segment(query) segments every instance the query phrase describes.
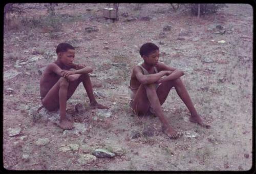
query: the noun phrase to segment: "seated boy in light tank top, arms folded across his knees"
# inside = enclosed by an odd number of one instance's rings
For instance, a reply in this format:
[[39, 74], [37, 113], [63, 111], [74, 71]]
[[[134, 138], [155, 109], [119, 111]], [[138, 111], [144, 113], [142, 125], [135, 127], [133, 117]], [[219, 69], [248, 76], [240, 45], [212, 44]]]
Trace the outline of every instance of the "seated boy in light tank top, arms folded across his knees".
[[138, 115], [154, 113], [162, 123], [163, 132], [170, 138], [176, 138], [178, 133], [170, 126], [161, 108], [170, 89], [174, 87], [191, 113], [189, 120], [209, 128], [210, 126], [205, 124], [198, 115], [180, 79], [184, 75], [183, 71], [158, 62], [159, 48], [155, 44], [142, 45], [140, 55], [144, 61], [133, 68], [129, 86], [132, 110]]

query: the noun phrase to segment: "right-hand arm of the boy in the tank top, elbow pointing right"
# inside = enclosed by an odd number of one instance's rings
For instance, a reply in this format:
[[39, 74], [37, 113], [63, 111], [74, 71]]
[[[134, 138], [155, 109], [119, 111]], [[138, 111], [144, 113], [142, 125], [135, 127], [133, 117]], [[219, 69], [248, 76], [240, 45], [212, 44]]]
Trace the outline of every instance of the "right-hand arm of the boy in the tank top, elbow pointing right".
[[184, 75], [184, 72], [172, 67], [168, 67], [163, 63], [158, 63], [157, 64], [157, 69], [161, 72], [161, 71], [172, 71], [168, 76], [160, 78], [157, 83], [162, 83], [164, 81], [168, 81], [168, 80], [175, 80], [177, 78], [180, 78], [181, 76]]

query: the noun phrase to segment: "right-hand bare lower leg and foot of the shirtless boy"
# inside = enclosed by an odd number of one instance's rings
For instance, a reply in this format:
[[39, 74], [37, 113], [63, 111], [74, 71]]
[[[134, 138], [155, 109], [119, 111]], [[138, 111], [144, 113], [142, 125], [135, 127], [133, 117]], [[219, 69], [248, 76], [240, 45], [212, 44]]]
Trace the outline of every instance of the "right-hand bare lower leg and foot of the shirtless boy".
[[89, 74], [82, 74], [81, 75], [81, 80], [82, 80], [82, 84], [84, 86], [84, 89], [86, 89], [87, 95], [89, 97], [90, 105], [93, 108], [109, 108], [109, 107], [106, 107], [102, 104], [97, 103], [97, 101], [94, 97], [94, 94], [93, 94], [93, 88], [92, 88], [92, 82], [91, 82], [91, 79], [90, 79], [90, 75]]

